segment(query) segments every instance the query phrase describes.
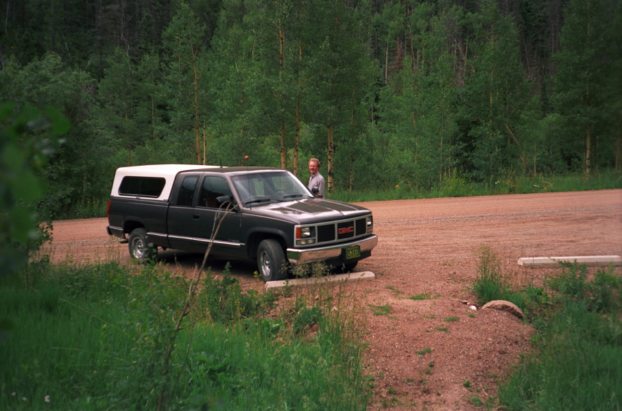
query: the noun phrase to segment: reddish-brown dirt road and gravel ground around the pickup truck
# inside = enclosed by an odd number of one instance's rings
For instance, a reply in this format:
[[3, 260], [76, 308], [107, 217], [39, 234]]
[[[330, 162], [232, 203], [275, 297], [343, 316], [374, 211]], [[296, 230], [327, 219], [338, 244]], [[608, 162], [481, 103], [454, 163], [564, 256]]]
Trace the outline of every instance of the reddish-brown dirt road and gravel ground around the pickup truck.
[[[558, 270], [518, 266], [521, 257], [622, 254], [622, 190], [557, 192], [361, 203], [374, 212], [379, 245], [348, 284], [363, 301], [369, 410], [477, 410], [529, 350], [531, 328], [512, 314], [473, 310], [470, 284], [479, 249], [492, 247], [516, 282]], [[106, 234], [106, 219], [56, 221], [53, 260], [130, 264], [127, 245]], [[160, 252], [186, 269], [202, 256]], [[213, 261], [215, 271], [224, 262]], [[235, 262], [244, 288], [263, 290], [252, 264]], [[618, 273], [620, 270], [618, 269]], [[409, 299], [426, 294], [430, 299]], [[380, 306], [389, 312], [374, 314]], [[476, 399], [477, 397], [477, 399]]]

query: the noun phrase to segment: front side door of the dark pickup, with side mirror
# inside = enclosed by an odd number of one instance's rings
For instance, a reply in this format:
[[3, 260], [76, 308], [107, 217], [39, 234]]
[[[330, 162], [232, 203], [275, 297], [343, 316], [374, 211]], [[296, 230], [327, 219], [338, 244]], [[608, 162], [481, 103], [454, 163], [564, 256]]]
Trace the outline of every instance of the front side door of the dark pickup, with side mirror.
[[[220, 257], [241, 256], [240, 214], [237, 210], [227, 212], [230, 205], [222, 206], [218, 197], [233, 194], [227, 180], [219, 175], [204, 175], [199, 190], [197, 206], [193, 214], [193, 236], [203, 251], [213, 242], [211, 254]], [[218, 228], [219, 222], [220, 227]]]

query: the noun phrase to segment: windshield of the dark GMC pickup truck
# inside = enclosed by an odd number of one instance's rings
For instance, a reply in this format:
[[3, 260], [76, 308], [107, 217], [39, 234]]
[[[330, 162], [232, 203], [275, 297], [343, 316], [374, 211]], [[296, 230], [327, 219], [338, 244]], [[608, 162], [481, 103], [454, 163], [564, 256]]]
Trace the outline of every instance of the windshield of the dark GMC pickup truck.
[[248, 173], [232, 180], [245, 206], [313, 198], [307, 187], [289, 171]]

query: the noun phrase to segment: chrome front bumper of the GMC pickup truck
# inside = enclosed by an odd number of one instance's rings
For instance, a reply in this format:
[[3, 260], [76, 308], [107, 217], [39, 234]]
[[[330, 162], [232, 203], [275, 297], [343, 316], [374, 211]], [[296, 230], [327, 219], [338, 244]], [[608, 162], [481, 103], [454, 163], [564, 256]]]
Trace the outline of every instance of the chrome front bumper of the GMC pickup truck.
[[[369, 257], [371, 251], [378, 244], [378, 236], [375, 234], [366, 237], [359, 238], [350, 242], [342, 242], [339, 244], [328, 245], [326, 247], [315, 247], [308, 249], [287, 249], [287, 260], [291, 264], [297, 262], [315, 262], [326, 261], [331, 262], [355, 262], [363, 258]], [[361, 257], [346, 260], [345, 250], [350, 247], [361, 247]]]

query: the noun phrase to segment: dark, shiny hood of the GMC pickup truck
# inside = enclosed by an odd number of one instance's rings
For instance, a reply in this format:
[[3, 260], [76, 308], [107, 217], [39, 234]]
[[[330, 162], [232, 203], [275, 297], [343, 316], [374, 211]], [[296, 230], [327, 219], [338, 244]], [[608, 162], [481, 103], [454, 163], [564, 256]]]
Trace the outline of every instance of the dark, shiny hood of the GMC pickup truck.
[[300, 199], [261, 204], [247, 208], [246, 211], [276, 219], [286, 219], [297, 224], [335, 221], [371, 214], [367, 208], [327, 199]]

